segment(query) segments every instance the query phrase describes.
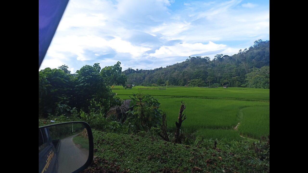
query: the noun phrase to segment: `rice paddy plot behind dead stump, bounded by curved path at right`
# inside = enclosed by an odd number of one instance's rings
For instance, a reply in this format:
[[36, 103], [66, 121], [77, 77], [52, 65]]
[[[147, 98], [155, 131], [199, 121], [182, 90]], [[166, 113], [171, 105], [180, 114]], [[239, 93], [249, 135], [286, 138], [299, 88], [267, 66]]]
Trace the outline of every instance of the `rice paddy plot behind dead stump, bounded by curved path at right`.
[[167, 123], [173, 126], [179, 115], [181, 100], [185, 102], [185, 128], [232, 129], [239, 122], [238, 111], [243, 107], [267, 106], [266, 102], [226, 99], [159, 98], [160, 108], [167, 113]]

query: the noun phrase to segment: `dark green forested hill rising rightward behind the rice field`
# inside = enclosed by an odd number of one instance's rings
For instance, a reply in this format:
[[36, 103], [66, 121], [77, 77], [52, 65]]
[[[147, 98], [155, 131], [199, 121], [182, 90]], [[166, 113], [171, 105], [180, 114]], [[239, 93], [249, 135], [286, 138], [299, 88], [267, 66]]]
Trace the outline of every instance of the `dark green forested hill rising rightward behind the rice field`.
[[126, 84], [144, 86], [222, 86], [270, 88], [270, 41], [258, 40], [233, 56], [188, 57], [154, 70], [124, 70]]

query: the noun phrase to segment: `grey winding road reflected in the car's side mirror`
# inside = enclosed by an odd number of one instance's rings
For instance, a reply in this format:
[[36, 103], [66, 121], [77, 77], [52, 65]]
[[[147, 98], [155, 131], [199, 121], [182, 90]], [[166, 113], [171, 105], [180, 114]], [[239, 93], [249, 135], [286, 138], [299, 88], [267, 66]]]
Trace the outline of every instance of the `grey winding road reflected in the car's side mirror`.
[[89, 150], [82, 148], [81, 145], [73, 142], [73, 137], [79, 134], [61, 139], [59, 151], [59, 173], [76, 171], [82, 167], [89, 157]]

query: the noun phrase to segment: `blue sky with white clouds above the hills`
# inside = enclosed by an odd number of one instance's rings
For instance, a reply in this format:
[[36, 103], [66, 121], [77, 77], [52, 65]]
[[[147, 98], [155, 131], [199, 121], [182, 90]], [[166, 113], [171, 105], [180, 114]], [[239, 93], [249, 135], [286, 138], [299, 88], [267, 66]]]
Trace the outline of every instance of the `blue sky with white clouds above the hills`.
[[154, 69], [270, 40], [270, 1], [70, 0], [40, 69]]

